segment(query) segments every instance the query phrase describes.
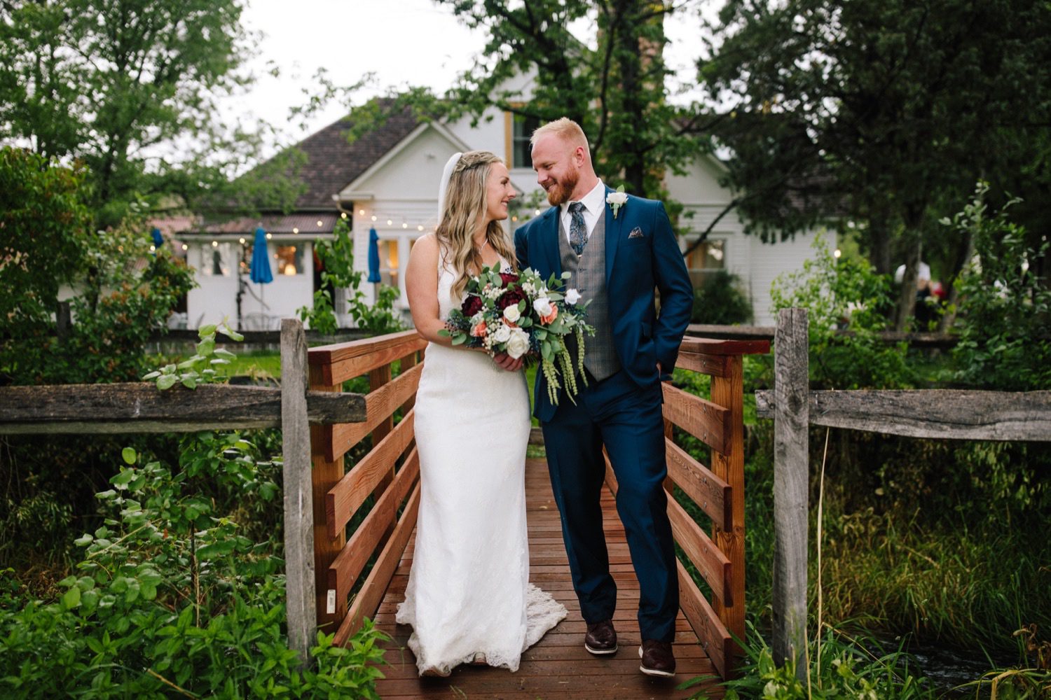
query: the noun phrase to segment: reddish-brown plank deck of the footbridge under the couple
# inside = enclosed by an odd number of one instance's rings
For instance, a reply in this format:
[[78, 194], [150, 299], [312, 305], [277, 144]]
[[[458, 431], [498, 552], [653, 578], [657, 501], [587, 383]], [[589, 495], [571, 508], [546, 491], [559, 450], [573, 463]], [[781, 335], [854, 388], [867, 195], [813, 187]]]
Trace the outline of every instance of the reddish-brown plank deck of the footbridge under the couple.
[[[584, 623], [573, 593], [569, 563], [562, 546], [558, 510], [551, 492], [543, 460], [529, 460], [526, 467], [526, 499], [529, 517], [530, 579], [565, 606], [569, 616], [522, 655], [516, 673], [489, 666], [459, 666], [448, 678], [419, 678], [415, 658], [407, 642], [411, 628], [395, 624], [394, 612], [405, 599], [415, 533], [409, 540], [391, 585], [376, 613], [376, 627], [391, 636], [384, 644], [387, 664], [385, 679], [376, 690], [384, 700], [392, 698], [688, 698], [704, 690], [710, 698], [721, 698], [715, 669], [698, 645], [682, 613], [676, 624], [674, 679], [650, 678], [639, 673], [639, 630], [635, 620], [638, 581], [632, 570], [624, 530], [617, 517], [613, 496], [603, 492], [603, 526], [610, 546], [611, 569], [617, 581], [617, 612], [614, 622], [620, 651], [612, 658], [596, 658], [583, 649]], [[708, 676], [704, 685], [687, 691], [676, 686], [697, 676]]]

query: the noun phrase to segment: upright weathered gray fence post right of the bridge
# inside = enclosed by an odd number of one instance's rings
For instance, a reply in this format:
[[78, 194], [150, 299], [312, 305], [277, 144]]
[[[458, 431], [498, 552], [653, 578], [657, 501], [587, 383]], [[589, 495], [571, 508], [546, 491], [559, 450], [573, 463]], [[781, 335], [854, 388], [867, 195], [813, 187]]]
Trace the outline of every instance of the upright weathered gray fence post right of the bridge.
[[809, 341], [805, 309], [782, 309], [774, 340], [774, 661], [806, 678]]

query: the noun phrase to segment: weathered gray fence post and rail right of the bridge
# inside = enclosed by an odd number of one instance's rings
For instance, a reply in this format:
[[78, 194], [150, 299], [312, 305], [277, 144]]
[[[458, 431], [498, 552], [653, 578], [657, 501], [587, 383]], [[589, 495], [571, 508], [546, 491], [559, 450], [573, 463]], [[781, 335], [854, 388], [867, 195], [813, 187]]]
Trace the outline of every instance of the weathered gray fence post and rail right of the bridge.
[[774, 419], [774, 653], [806, 673], [808, 426], [909, 438], [1051, 441], [1051, 391], [810, 391], [806, 310], [779, 313], [775, 388], [756, 391]]

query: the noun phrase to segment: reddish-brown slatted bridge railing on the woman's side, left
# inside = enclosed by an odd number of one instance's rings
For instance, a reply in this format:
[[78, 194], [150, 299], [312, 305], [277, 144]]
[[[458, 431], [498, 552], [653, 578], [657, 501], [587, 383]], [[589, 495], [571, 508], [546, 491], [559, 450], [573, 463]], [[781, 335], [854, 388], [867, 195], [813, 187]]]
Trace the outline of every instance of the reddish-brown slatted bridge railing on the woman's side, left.
[[[426, 344], [415, 331], [407, 331], [308, 353], [311, 389], [338, 391], [344, 382], [364, 375], [370, 385], [360, 422], [311, 428], [317, 623], [335, 630], [336, 644], [346, 643], [364, 618], [375, 614], [416, 525], [420, 486], [412, 404]], [[403, 416], [395, 425], [398, 411]], [[345, 455], [370, 434], [369, 451], [345, 470]], [[348, 539], [348, 524], [365, 508]]]

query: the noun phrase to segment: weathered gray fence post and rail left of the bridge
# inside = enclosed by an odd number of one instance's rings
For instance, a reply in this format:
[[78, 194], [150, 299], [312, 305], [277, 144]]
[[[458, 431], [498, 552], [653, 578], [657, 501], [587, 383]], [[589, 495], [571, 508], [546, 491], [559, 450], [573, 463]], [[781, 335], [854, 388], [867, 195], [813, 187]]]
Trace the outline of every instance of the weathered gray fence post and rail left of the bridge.
[[308, 426], [353, 426], [367, 415], [360, 395], [308, 390], [307, 341], [297, 320], [282, 321], [281, 360], [281, 388], [205, 384], [159, 391], [148, 382], [0, 387], [0, 434], [282, 428], [289, 645], [306, 661], [316, 629]]

